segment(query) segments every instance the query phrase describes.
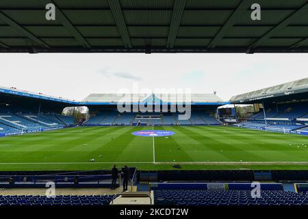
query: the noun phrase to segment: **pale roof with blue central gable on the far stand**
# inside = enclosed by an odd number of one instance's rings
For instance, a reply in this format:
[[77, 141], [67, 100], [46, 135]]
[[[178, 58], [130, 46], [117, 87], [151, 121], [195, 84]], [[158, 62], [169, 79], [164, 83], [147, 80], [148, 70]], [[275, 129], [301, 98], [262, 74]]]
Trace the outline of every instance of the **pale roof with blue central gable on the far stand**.
[[179, 103], [181, 101], [191, 101], [192, 104], [213, 104], [224, 105], [216, 94], [90, 94], [81, 103], [148, 103], [148, 104], [163, 104], [163, 103]]

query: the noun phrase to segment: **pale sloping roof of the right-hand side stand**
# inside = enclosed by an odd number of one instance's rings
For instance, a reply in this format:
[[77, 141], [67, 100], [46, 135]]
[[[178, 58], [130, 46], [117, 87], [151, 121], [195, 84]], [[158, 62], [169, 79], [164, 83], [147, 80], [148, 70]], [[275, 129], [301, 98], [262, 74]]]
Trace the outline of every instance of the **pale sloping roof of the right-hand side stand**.
[[303, 98], [308, 99], [307, 92], [308, 77], [297, 81], [282, 83], [270, 88], [264, 88], [261, 90], [255, 90], [253, 92], [232, 96], [230, 102], [235, 104], [259, 103], [268, 99], [279, 99], [279, 97], [282, 97], [285, 101], [287, 101], [287, 99], [294, 98], [294, 96], [303, 96]]

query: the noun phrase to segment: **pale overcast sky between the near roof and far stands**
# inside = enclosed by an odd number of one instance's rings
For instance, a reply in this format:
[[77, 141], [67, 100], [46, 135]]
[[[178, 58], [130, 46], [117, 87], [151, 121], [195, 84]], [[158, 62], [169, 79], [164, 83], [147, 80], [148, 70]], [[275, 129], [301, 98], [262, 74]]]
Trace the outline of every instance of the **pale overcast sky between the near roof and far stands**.
[[120, 88], [235, 94], [308, 77], [308, 54], [0, 54], [0, 86], [81, 101]]

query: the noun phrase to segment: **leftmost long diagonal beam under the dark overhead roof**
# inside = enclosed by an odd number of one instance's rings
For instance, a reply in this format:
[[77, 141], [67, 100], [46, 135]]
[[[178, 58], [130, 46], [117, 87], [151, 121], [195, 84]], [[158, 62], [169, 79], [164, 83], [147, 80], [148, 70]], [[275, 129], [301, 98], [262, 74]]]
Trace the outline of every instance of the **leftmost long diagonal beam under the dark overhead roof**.
[[41, 47], [49, 48], [49, 45], [47, 43], [43, 42], [42, 40], [40, 40], [39, 38], [31, 34], [29, 31], [27, 31], [27, 29], [21, 27], [21, 25], [18, 25], [18, 23], [13, 21], [11, 18], [6, 16], [2, 12], [0, 12], [0, 20], [3, 21], [4, 23], [7, 23], [11, 27], [13, 27], [16, 31], [18, 31], [19, 34], [26, 36], [27, 38], [31, 39], [33, 42], [36, 42]]

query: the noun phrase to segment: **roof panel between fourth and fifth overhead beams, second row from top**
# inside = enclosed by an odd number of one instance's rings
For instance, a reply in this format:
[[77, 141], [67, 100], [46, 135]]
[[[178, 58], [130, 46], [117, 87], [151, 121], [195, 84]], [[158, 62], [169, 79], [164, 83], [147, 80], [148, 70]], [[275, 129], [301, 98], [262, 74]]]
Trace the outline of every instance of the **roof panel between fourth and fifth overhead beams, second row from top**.
[[181, 25], [224, 25], [232, 10], [185, 10]]

